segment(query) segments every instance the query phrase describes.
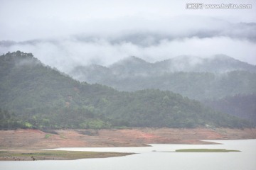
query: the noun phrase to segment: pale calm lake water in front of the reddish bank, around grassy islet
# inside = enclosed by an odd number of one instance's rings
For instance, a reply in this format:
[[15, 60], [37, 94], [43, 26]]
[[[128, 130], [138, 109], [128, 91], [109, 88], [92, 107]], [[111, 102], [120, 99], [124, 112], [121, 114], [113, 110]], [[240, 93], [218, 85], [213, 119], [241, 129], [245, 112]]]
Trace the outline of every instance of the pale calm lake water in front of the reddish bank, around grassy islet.
[[[162, 145], [152, 147], [59, 148], [62, 150], [97, 152], [135, 152], [125, 157], [79, 159], [71, 161], [0, 162], [0, 169], [62, 169], [62, 170], [255, 170], [256, 140], [210, 140], [223, 145]], [[241, 152], [184, 153], [176, 149], [236, 149]]]

